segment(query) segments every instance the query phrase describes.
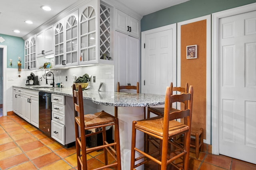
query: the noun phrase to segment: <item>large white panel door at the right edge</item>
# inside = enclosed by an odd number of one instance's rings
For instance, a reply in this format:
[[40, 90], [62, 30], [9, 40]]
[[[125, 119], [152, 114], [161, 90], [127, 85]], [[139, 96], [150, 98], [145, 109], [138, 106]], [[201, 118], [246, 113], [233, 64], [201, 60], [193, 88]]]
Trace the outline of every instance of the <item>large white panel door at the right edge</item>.
[[256, 11], [220, 19], [220, 154], [256, 163]]

